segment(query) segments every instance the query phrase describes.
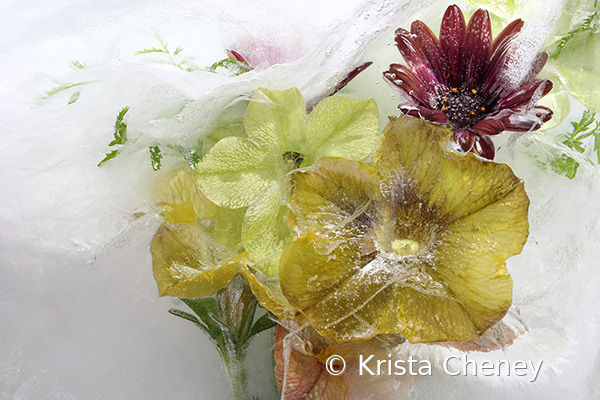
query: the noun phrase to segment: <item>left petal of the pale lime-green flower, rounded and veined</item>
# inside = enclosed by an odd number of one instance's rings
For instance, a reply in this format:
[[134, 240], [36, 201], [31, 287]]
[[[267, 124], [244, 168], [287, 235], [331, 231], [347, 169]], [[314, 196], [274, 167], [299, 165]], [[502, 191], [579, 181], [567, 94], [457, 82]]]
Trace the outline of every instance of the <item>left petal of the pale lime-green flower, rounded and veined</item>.
[[270, 149], [248, 139], [219, 141], [196, 166], [194, 179], [211, 201], [228, 208], [248, 206], [273, 185], [277, 173]]

